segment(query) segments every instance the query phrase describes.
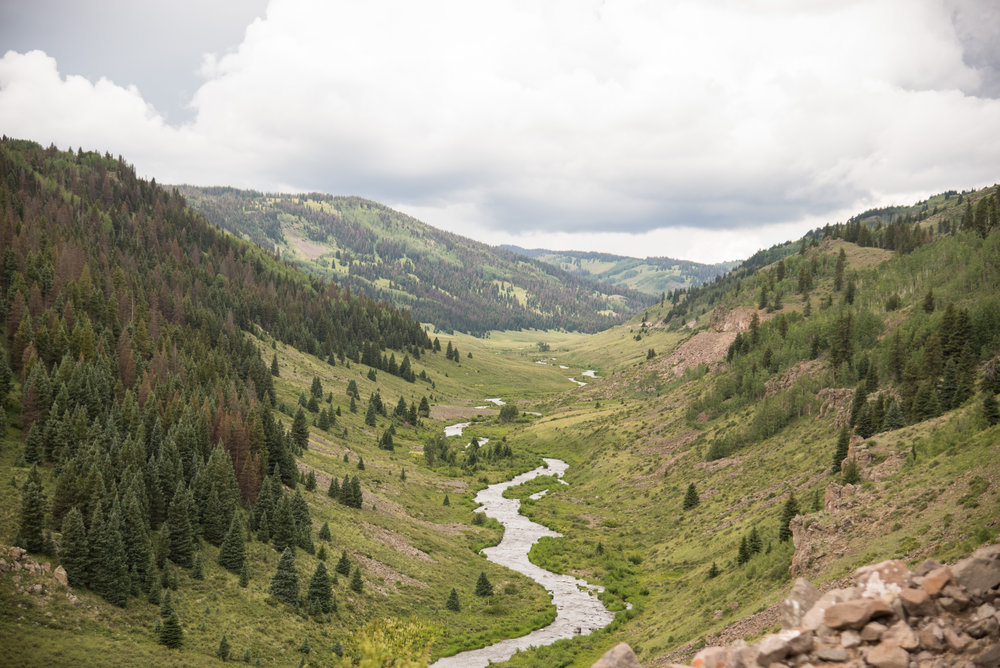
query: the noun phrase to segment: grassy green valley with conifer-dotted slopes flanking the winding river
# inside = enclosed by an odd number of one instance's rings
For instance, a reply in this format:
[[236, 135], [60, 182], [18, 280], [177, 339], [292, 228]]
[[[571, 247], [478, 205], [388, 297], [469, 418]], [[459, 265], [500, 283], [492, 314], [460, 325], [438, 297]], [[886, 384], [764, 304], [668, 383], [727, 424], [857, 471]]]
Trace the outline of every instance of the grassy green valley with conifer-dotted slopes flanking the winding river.
[[814, 230], [615, 323], [473, 336], [219, 231], [121, 160], [5, 140], [0, 167], [19, 665], [449, 665], [537, 633], [560, 600], [486, 558], [517, 535], [477, 512], [502, 488], [544, 528], [520, 564], [609, 615], [510, 666], [621, 641], [687, 660], [774, 630], [794, 577], [996, 542], [995, 187]]

